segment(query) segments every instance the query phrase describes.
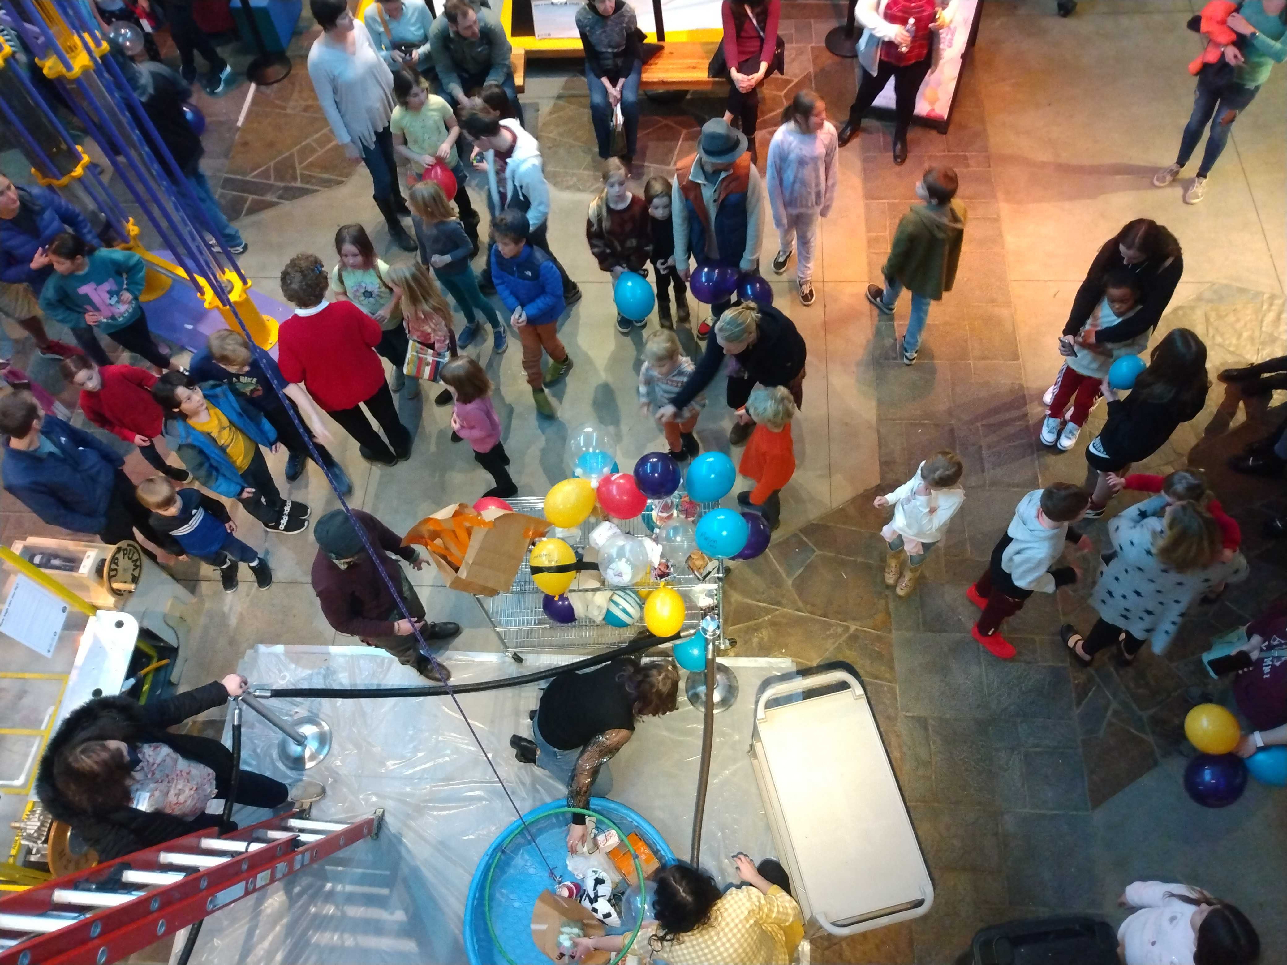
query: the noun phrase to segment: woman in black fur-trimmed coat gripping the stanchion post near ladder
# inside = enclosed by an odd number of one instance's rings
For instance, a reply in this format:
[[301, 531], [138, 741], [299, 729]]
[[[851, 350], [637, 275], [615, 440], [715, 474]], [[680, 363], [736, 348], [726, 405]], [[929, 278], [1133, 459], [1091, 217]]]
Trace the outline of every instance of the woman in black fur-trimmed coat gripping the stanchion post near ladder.
[[[206, 805], [228, 791], [232, 751], [210, 737], [167, 728], [239, 696], [246, 686], [245, 677], [229, 674], [152, 704], [121, 696], [77, 708], [40, 759], [40, 803], [100, 861], [218, 827], [220, 814], [207, 814]], [[301, 781], [295, 799], [315, 800], [322, 791], [315, 781]], [[238, 775], [238, 804], [275, 808], [290, 798], [281, 781], [252, 771]]]

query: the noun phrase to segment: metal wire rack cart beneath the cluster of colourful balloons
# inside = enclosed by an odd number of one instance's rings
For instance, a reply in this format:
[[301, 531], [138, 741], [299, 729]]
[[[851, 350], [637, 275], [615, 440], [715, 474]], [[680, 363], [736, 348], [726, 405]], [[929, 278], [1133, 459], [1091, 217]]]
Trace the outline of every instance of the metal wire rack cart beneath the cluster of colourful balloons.
[[[677, 493], [676, 498], [678, 495]], [[544, 512], [544, 501], [541, 497], [515, 497], [508, 503], [517, 512], [530, 513], [532, 516], [542, 516]], [[708, 510], [716, 508], [716, 506], [717, 503], [699, 503], [698, 519]], [[650, 502], [649, 511], [651, 508], [653, 503]], [[623, 533], [629, 533], [633, 537], [651, 535], [642, 516], [637, 516], [633, 520], [613, 520], [613, 522], [620, 526]], [[596, 525], [598, 525], [598, 520], [592, 517], [575, 529], [575, 535], [565, 530], [561, 538], [573, 549], [582, 552], [588, 546], [589, 531]], [[681, 634], [692, 634], [696, 633], [698, 624], [701, 621], [701, 614], [692, 601], [694, 592], [700, 587], [714, 593], [718, 600], [722, 587], [717, 579], [705, 583], [699, 580], [689, 571], [683, 560], [673, 560], [672, 564], [674, 565], [674, 575], [665, 580], [665, 585], [683, 594], [685, 602], [689, 605], [689, 611]], [[646, 592], [656, 589], [660, 585], [663, 584], [650, 580], [634, 587], [623, 587], [622, 589]], [[613, 589], [613, 587], [569, 589], [568, 593], [569, 596], [597, 593], [604, 589]], [[519, 574], [514, 578], [514, 585], [508, 592], [492, 597], [479, 596], [475, 598], [483, 614], [492, 624], [492, 628], [501, 638], [506, 652], [515, 660], [521, 660], [519, 655], [524, 652], [610, 650], [631, 639], [644, 627], [642, 616], [629, 627], [613, 627], [607, 623], [584, 618], [574, 623], [555, 623], [542, 610], [544, 593], [532, 582], [532, 570], [528, 566], [526, 557], [524, 557], [523, 566], [519, 567]]]

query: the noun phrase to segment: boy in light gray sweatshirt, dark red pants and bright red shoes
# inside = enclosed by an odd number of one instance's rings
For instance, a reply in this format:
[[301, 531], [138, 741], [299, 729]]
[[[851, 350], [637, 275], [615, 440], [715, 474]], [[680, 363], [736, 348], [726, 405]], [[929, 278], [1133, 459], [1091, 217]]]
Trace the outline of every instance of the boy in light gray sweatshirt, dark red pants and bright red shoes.
[[983, 611], [970, 636], [992, 656], [1014, 657], [1014, 647], [997, 630], [1006, 616], [1023, 609], [1030, 596], [1054, 593], [1077, 582], [1080, 574], [1075, 566], [1050, 567], [1063, 555], [1066, 542], [1082, 552], [1093, 548], [1086, 537], [1069, 526], [1086, 515], [1089, 502], [1090, 495], [1071, 482], [1033, 489], [1019, 501], [987, 569], [965, 591], [969, 601]]

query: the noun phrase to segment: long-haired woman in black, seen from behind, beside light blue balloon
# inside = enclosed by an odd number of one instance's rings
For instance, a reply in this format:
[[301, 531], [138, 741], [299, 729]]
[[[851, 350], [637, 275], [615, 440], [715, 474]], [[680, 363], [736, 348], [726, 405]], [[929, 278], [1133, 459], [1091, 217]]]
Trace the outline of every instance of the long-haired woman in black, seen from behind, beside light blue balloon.
[[1206, 345], [1188, 328], [1171, 329], [1153, 346], [1148, 368], [1125, 399], [1117, 398], [1107, 378], [1103, 381], [1108, 422], [1086, 446], [1088, 520], [1103, 516], [1112, 498], [1108, 475], [1124, 476], [1133, 462], [1161, 449], [1181, 422], [1202, 412], [1210, 387]]

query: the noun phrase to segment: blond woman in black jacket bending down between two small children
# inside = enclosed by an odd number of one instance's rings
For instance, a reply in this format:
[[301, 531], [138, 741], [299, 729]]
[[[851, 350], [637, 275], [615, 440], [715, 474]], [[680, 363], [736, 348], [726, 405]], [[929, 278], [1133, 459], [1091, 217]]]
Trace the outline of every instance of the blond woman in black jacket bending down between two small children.
[[737, 422], [728, 431], [728, 444], [741, 445], [755, 428], [755, 422], [744, 409], [750, 390], [757, 385], [784, 385], [790, 390], [795, 408], [804, 403], [804, 337], [792, 322], [770, 305], [744, 301], [719, 317], [714, 324], [714, 338], [707, 341], [707, 350], [698, 360], [689, 381], [683, 383], [669, 405], [658, 409], [659, 422], [673, 422], [689, 407], [698, 392], [710, 385], [726, 358], [732, 359], [736, 372], [728, 373], [728, 408], [737, 413]]

